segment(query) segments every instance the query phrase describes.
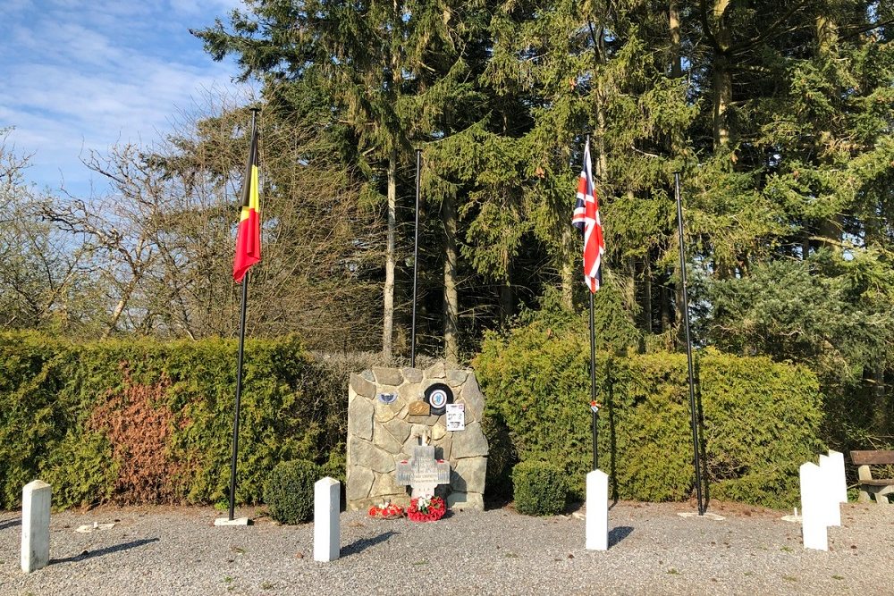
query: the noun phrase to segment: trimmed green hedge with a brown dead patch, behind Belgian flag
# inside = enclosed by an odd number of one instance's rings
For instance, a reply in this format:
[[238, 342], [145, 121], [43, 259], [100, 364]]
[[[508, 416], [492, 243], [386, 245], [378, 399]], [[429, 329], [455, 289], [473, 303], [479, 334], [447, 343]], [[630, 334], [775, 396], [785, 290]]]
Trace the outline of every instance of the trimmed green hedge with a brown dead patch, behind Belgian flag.
[[[0, 334], [0, 508], [37, 477], [59, 507], [225, 501], [236, 348]], [[347, 397], [294, 338], [245, 356], [236, 500], [257, 503], [279, 462], [343, 458]]]

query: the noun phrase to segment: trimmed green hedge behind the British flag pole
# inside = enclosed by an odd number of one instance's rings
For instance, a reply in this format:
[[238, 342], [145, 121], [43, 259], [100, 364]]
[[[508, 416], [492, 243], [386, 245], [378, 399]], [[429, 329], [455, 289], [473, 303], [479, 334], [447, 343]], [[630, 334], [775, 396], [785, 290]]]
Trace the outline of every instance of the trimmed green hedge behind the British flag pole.
[[[489, 416], [522, 461], [544, 459], [584, 494], [592, 466], [586, 329], [534, 321], [490, 335], [475, 368]], [[822, 449], [818, 382], [803, 366], [696, 354], [709, 494], [768, 507], [797, 503], [798, 466]], [[694, 486], [686, 357], [597, 357], [600, 467], [620, 499], [683, 500]]]

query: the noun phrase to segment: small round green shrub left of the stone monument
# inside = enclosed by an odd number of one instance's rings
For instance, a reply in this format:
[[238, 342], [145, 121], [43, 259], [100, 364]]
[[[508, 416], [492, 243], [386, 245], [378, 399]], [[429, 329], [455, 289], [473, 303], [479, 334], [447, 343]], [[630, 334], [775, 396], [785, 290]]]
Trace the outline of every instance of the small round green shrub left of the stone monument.
[[314, 462], [294, 459], [277, 464], [264, 485], [270, 516], [283, 524], [300, 524], [314, 516], [314, 483], [322, 478]]

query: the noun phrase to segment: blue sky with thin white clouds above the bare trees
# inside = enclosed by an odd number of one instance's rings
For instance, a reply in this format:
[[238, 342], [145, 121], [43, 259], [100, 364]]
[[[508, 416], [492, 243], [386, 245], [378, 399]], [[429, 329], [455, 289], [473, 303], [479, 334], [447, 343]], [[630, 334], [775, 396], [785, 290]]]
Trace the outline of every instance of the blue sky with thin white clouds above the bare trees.
[[[240, 0], [0, 0], [0, 129], [7, 149], [33, 154], [38, 189], [89, 192], [89, 150], [148, 145], [208, 93], [240, 97], [233, 63], [215, 63], [188, 29]], [[224, 18], [224, 22], [227, 20]], [[105, 182], [92, 175], [96, 191]]]

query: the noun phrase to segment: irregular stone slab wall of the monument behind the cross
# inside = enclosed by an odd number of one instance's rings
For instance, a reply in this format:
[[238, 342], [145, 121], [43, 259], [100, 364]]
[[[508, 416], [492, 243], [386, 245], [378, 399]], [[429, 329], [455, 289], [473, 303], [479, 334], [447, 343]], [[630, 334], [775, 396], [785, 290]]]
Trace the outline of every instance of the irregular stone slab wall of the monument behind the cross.
[[[446, 416], [414, 415], [434, 383], [448, 385], [454, 403], [465, 404], [465, 430], [448, 431]], [[380, 399], [380, 396], [386, 396]], [[385, 403], [393, 395], [392, 403]], [[417, 407], [419, 405], [417, 404]], [[481, 429], [485, 398], [470, 370], [380, 368], [352, 374], [348, 390], [347, 501], [365, 509], [384, 500], [409, 504], [408, 487], [397, 484], [397, 463], [409, 459], [419, 437], [434, 445], [435, 457], [450, 463], [451, 482], [436, 494], [450, 508], [484, 508], [487, 440]]]

